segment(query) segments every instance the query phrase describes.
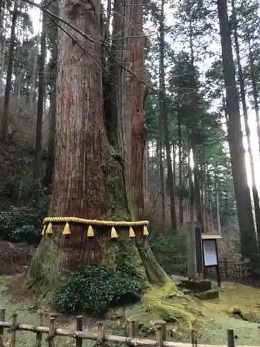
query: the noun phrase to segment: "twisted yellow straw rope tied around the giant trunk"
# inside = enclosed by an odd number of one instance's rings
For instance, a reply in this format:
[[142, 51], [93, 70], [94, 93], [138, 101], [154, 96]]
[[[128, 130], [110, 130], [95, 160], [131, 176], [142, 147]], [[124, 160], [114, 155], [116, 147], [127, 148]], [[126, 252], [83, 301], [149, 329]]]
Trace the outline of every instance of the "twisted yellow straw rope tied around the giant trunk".
[[77, 217], [46, 217], [45, 223], [82, 223], [91, 224], [93, 226], [148, 226], [148, 221], [98, 221], [98, 219], [83, 219]]

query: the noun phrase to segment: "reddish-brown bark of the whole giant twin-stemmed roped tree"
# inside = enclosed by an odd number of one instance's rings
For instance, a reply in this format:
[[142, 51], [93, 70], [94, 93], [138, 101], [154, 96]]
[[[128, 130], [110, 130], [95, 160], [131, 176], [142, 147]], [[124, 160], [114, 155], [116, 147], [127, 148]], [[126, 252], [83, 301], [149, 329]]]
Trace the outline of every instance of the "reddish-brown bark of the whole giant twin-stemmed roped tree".
[[[137, 24], [141, 26], [142, 6], [137, 0], [117, 5], [114, 1], [114, 8], [120, 12], [114, 19], [118, 19], [119, 24], [123, 21], [124, 25], [121, 23], [116, 32], [120, 29], [120, 35], [127, 37], [130, 31], [132, 35], [129, 36], [136, 36], [133, 34]], [[128, 45], [124, 42], [124, 50], [116, 50], [114, 57], [110, 57], [113, 69], [118, 69], [119, 74], [114, 74], [113, 78], [108, 74], [111, 80], [107, 78], [107, 89], [103, 89], [104, 69], [101, 66], [101, 45], [98, 44], [101, 38], [101, 1], [90, 3], [85, 0], [74, 6], [71, 1], [60, 0], [59, 10], [60, 17], [92, 37], [94, 42], [67, 29], [84, 48], [83, 52], [66, 33], [59, 32], [55, 175], [49, 215], [140, 219], [144, 215], [145, 145], [142, 120], [144, 85], [139, 81], [142, 67], [137, 65], [142, 52], [141, 39], [131, 39]], [[116, 14], [115, 11], [114, 16]], [[123, 44], [123, 41], [117, 42]], [[130, 60], [117, 60], [116, 54], [128, 55]], [[127, 61], [127, 64], [133, 62], [137, 78], [126, 84], [127, 71], [115, 59]], [[122, 83], [118, 84], [119, 81]], [[107, 97], [103, 91], [112, 92], [110, 108], [105, 110], [107, 117], [107, 112], [114, 107], [114, 113], [110, 115], [115, 118], [114, 127], [109, 129], [105, 127], [103, 117], [103, 99]], [[135, 95], [134, 100], [128, 93]], [[114, 96], [116, 104], [113, 103]], [[112, 145], [107, 140], [111, 138], [107, 133], [114, 130], [113, 141], [116, 143]], [[78, 266], [87, 264], [113, 264], [114, 253], [120, 251], [119, 243], [110, 239], [110, 229], [95, 228], [95, 237], [86, 237], [86, 226], [76, 224], [71, 225], [71, 235], [64, 237], [63, 228], [64, 225], [53, 226], [52, 237], [42, 238], [28, 271], [27, 285], [44, 295], [53, 294], [66, 271], [75, 271]], [[144, 278], [151, 282], [168, 280], [144, 237], [139, 237], [138, 230], [136, 234], [135, 241], [126, 238], [121, 240], [120, 246], [128, 248], [133, 264]]]

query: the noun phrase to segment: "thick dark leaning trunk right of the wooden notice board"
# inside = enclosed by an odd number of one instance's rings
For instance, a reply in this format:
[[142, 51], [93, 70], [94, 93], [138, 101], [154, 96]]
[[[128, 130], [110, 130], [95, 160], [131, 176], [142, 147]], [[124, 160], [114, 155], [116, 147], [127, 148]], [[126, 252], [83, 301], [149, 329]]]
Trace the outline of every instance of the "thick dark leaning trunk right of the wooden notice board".
[[254, 260], [257, 250], [257, 239], [254, 229], [250, 190], [245, 169], [245, 149], [239, 112], [239, 93], [236, 89], [236, 73], [232, 56], [232, 42], [227, 16], [227, 1], [218, 0], [218, 17], [222, 47], [223, 71], [227, 95], [228, 139], [232, 161], [236, 209], [239, 217], [241, 235], [241, 254]]

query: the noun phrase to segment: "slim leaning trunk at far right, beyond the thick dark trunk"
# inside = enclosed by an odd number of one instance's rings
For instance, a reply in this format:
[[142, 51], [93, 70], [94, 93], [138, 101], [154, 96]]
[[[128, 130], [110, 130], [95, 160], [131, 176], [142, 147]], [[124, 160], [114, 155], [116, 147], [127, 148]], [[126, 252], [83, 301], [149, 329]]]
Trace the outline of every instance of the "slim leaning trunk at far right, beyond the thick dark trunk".
[[257, 182], [255, 178], [255, 171], [254, 171], [254, 158], [252, 153], [252, 144], [250, 139], [250, 127], [248, 124], [248, 108], [245, 101], [245, 83], [243, 78], [243, 71], [241, 67], [241, 58], [240, 58], [240, 50], [239, 50], [239, 36], [238, 36], [238, 28], [237, 28], [237, 19], [236, 19], [236, 9], [234, 7], [234, 0], [232, 0], [232, 16], [233, 16], [233, 27], [234, 27], [234, 41], [235, 41], [235, 47], [236, 47], [236, 61], [237, 66], [239, 70], [239, 85], [240, 85], [240, 94], [241, 94], [241, 101], [242, 101], [242, 107], [243, 107], [243, 116], [245, 119], [245, 135], [248, 140], [248, 154], [249, 154], [249, 161], [250, 161], [250, 171], [252, 176], [252, 194], [253, 194], [253, 201], [254, 201], [254, 214], [257, 224], [257, 238], [258, 238], [258, 247], [260, 252], [260, 205], [259, 205], [259, 195], [257, 190]]

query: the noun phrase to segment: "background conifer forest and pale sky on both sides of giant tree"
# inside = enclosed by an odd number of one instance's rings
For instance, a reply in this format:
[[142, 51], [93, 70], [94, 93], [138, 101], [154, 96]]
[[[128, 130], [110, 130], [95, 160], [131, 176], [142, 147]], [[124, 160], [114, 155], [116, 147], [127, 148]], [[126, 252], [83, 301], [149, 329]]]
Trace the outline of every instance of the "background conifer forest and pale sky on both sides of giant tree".
[[[229, 145], [236, 139], [227, 134], [216, 3], [143, 4], [148, 86], [144, 195], [150, 242], [164, 265], [168, 257], [185, 258], [185, 222], [192, 220], [201, 221], [207, 232], [221, 233], [222, 257], [250, 257], [257, 249], [260, 6], [257, 1], [234, 0], [227, 5], [250, 200], [246, 192], [234, 194], [234, 174], [245, 170], [232, 171], [231, 166]], [[53, 178], [57, 27], [49, 19], [40, 21], [42, 12], [30, 1], [14, 6], [1, 0], [1, 238], [37, 244]], [[46, 6], [55, 12], [55, 1]], [[104, 13], [111, 6], [105, 3]], [[243, 165], [241, 158], [238, 162]], [[250, 213], [254, 224], [249, 220], [246, 225], [243, 214]], [[244, 249], [241, 237], [249, 244]]]

